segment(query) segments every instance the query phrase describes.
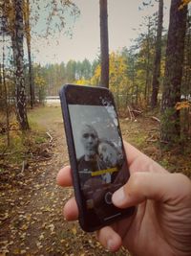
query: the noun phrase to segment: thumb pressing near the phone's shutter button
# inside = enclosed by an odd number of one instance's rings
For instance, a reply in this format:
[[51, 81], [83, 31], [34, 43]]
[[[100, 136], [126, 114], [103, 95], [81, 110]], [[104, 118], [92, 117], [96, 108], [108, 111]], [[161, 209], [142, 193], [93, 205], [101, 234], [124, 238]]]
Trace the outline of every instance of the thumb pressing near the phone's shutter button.
[[112, 200], [117, 207], [126, 208], [146, 199], [167, 202], [185, 198], [190, 189], [190, 180], [184, 175], [137, 172], [114, 193]]

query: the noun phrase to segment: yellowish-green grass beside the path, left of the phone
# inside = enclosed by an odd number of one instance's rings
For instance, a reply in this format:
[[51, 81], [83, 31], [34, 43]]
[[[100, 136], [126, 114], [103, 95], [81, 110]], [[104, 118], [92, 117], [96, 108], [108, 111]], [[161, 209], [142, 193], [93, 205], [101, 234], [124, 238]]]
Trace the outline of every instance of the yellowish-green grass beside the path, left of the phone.
[[[1, 172], [7, 166], [21, 165], [24, 160], [28, 160], [32, 156], [32, 151], [35, 151], [41, 144], [48, 141], [46, 128], [40, 124], [47, 114], [45, 107], [39, 107], [29, 111], [28, 119], [30, 130], [22, 132], [18, 126], [14, 130], [10, 130], [10, 146], [7, 145], [7, 134], [0, 134], [0, 160]], [[53, 112], [48, 112], [49, 116], [53, 116]], [[11, 123], [16, 123], [15, 117], [11, 115]]]

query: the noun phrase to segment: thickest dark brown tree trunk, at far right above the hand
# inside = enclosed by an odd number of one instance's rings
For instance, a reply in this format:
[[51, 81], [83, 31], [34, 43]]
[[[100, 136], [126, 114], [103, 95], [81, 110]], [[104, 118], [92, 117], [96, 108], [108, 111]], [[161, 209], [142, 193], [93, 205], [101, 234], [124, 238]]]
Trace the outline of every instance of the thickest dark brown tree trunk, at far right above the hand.
[[168, 142], [169, 146], [180, 142], [180, 111], [175, 105], [180, 102], [187, 13], [187, 6], [179, 9], [180, 4], [181, 0], [171, 2], [161, 105], [161, 140]]

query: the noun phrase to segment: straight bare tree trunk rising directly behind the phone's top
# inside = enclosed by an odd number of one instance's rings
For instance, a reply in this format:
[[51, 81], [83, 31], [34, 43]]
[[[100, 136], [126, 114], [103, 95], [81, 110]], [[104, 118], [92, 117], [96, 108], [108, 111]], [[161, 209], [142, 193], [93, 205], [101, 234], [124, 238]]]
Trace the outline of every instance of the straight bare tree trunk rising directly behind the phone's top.
[[100, 48], [101, 86], [109, 88], [109, 43], [107, 0], [99, 0], [100, 8]]

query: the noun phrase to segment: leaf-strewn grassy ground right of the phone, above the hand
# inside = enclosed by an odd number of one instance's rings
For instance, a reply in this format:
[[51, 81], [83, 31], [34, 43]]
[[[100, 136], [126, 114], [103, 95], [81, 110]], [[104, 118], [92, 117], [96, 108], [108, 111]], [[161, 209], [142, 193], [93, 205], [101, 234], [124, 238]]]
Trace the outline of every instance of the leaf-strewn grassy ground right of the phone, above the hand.
[[166, 150], [159, 143], [158, 123], [145, 117], [138, 117], [137, 122], [121, 119], [120, 127], [123, 139], [159, 162], [166, 170], [191, 177], [191, 147], [189, 143], [186, 143], [183, 148]]

